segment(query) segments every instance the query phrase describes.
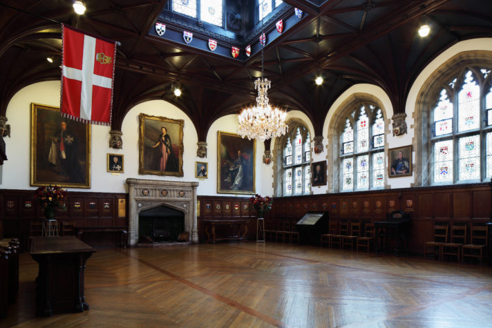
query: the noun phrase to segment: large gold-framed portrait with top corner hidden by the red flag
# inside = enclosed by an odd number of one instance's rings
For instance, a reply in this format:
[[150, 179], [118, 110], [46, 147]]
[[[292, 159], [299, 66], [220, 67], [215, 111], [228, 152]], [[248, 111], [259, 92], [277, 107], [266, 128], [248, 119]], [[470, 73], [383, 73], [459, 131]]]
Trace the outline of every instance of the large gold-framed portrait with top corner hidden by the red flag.
[[31, 186], [91, 188], [91, 126], [31, 104]]

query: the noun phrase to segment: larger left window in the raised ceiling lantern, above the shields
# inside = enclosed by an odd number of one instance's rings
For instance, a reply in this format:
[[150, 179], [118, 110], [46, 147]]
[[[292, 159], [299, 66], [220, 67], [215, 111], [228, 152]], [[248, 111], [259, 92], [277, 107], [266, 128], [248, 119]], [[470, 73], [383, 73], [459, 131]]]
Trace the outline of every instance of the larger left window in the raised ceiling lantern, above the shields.
[[223, 26], [223, 0], [173, 0], [173, 12]]

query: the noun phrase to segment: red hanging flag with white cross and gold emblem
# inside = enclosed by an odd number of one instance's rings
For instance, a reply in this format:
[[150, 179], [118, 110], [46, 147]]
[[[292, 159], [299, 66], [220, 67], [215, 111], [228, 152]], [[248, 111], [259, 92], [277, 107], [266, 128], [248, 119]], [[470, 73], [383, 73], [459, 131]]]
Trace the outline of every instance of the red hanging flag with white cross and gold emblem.
[[61, 115], [78, 122], [111, 125], [115, 41], [62, 24]]

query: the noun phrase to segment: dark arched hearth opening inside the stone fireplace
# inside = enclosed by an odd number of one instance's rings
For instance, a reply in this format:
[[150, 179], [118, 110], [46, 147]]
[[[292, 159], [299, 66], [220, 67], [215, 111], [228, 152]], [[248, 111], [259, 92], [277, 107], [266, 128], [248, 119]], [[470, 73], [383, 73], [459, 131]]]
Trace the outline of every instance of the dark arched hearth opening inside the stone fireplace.
[[177, 242], [185, 231], [185, 213], [161, 205], [138, 215], [139, 243]]

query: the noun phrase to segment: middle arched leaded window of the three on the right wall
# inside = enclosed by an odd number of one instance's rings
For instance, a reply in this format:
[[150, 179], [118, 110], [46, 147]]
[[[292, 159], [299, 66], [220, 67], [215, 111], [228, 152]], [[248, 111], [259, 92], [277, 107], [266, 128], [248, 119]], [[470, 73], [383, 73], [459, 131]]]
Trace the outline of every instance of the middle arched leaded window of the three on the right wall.
[[341, 132], [341, 191], [384, 188], [384, 117], [372, 104], [357, 106]]

